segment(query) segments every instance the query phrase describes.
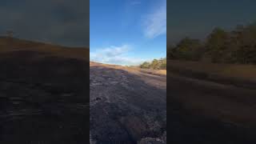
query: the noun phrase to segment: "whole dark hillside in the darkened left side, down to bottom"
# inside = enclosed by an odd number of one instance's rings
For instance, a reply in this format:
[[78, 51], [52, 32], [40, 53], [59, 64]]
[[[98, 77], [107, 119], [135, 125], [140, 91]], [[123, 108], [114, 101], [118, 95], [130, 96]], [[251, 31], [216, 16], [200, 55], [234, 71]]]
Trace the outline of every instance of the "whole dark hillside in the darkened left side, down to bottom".
[[0, 38], [0, 67], [0, 143], [89, 142], [89, 49]]

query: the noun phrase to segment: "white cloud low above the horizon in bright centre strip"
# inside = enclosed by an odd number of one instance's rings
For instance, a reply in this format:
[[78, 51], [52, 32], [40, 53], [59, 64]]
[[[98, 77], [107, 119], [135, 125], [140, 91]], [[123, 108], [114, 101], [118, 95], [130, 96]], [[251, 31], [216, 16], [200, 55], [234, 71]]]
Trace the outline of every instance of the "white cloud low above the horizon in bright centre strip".
[[129, 45], [110, 46], [90, 52], [90, 61], [118, 65], [138, 65], [146, 60], [141, 58], [130, 58], [127, 53], [131, 50]]

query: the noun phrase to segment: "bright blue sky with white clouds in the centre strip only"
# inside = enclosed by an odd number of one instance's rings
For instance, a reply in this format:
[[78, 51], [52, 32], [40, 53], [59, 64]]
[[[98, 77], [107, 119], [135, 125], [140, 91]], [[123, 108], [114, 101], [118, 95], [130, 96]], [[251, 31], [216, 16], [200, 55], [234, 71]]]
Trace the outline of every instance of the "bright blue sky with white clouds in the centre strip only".
[[166, 0], [90, 1], [90, 60], [138, 65], [166, 57]]

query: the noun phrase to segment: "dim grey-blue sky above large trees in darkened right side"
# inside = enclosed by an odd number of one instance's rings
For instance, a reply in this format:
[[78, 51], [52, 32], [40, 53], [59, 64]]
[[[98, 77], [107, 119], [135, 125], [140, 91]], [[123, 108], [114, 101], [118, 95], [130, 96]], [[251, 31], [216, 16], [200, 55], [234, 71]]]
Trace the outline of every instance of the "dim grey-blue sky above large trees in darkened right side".
[[214, 27], [233, 30], [256, 22], [255, 0], [178, 0], [167, 2], [167, 45], [181, 38], [206, 38]]

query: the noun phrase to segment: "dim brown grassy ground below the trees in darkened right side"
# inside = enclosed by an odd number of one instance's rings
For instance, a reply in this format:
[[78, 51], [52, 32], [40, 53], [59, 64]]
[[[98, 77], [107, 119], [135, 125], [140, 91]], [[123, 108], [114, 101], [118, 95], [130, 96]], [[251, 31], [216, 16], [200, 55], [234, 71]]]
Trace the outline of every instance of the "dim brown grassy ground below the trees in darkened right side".
[[184, 109], [220, 122], [256, 126], [256, 66], [172, 60], [167, 64], [167, 90]]

